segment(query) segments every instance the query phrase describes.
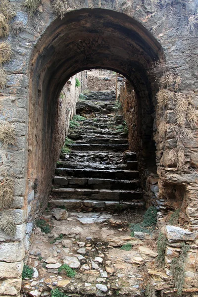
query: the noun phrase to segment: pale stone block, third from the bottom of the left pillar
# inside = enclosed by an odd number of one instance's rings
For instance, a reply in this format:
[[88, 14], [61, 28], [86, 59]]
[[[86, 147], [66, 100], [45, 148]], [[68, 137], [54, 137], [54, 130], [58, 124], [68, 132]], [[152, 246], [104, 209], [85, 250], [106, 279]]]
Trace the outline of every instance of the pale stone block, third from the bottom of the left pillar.
[[25, 256], [24, 242], [11, 242], [0, 244], [0, 261], [18, 262]]

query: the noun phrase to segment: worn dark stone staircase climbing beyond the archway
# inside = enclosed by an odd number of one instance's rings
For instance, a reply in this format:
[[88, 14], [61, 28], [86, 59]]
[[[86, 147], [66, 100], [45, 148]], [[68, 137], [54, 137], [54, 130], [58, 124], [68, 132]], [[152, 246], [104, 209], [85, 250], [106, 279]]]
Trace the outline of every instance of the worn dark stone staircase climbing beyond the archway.
[[136, 154], [128, 150], [123, 117], [115, 113], [114, 92], [89, 92], [76, 113], [86, 117], [69, 129], [75, 143], [60, 154], [51, 205], [67, 209], [122, 210], [144, 206]]

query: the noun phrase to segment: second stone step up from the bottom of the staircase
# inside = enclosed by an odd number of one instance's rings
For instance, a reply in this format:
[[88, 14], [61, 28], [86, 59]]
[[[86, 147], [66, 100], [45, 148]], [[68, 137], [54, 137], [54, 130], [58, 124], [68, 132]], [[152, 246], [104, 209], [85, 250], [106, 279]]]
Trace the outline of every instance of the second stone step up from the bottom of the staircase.
[[79, 189], [79, 188], [57, 188], [51, 190], [51, 196], [64, 199], [95, 199], [95, 200], [115, 200], [131, 201], [141, 199], [141, 190], [107, 190], [107, 189]]

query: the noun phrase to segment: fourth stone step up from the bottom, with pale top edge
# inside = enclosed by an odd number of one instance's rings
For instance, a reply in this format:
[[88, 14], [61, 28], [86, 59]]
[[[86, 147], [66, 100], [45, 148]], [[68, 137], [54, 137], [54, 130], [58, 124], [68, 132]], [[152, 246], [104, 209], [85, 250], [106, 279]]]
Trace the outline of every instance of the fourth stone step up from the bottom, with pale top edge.
[[55, 174], [59, 176], [90, 177], [102, 179], [131, 180], [139, 177], [137, 170], [98, 170], [98, 169], [73, 169], [56, 168]]

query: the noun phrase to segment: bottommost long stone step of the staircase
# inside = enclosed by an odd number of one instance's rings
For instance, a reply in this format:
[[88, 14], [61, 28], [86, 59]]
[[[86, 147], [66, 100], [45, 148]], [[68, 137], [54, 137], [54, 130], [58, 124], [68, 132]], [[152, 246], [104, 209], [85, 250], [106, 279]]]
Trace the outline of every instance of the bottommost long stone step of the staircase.
[[49, 200], [51, 205], [55, 206], [65, 206], [67, 210], [77, 209], [77, 208], [93, 208], [100, 209], [105, 208], [105, 210], [116, 210], [121, 211], [125, 209], [136, 209], [141, 210], [145, 202], [143, 200], [132, 200], [132, 201], [107, 201], [107, 200], [87, 200], [87, 199], [52, 199]]

